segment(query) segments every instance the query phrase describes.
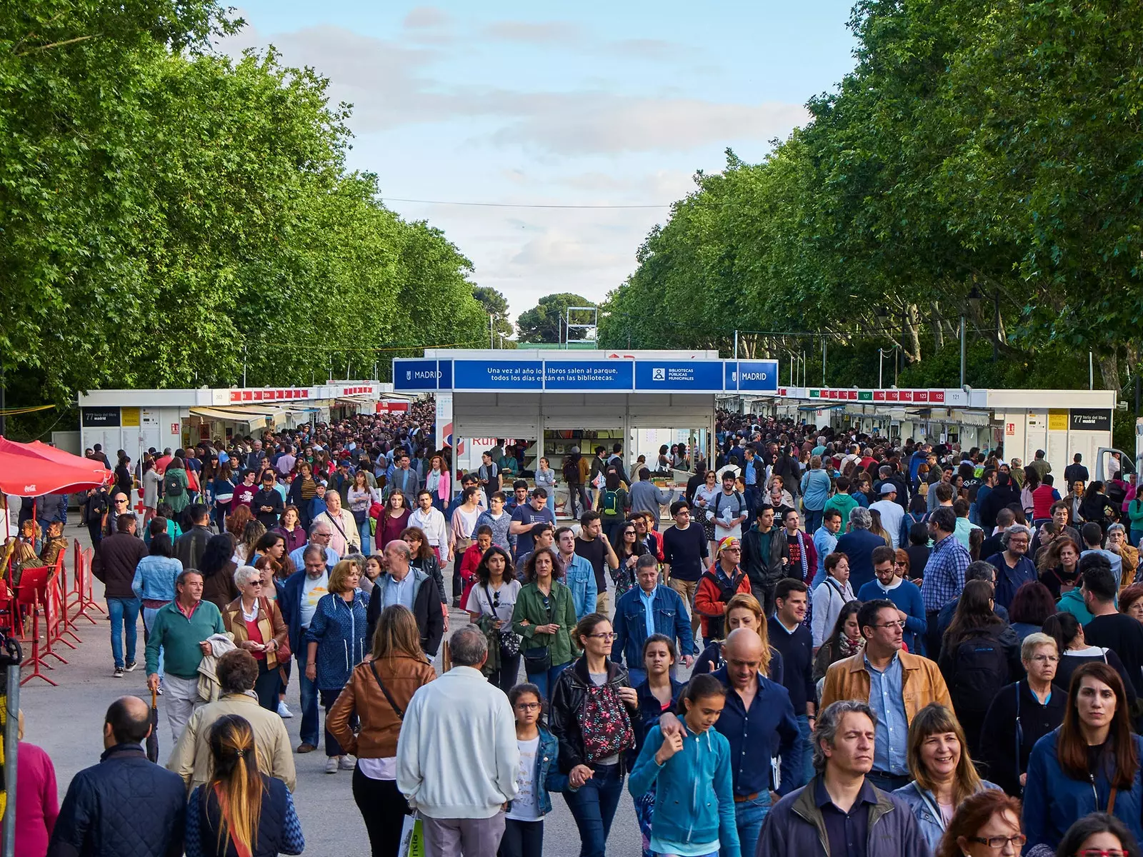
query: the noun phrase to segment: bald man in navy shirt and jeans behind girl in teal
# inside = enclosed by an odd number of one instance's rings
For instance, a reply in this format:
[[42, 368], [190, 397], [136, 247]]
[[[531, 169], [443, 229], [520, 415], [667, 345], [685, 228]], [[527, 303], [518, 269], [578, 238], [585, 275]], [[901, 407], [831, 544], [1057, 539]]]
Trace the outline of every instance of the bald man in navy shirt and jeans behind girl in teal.
[[[714, 728], [730, 744], [734, 812], [743, 855], [753, 855], [762, 822], [778, 795], [797, 787], [794, 747], [800, 740], [790, 691], [765, 678], [762, 640], [752, 628], [735, 628], [722, 648], [726, 666], [712, 675], [729, 691]], [[658, 721], [664, 736], [685, 732], [671, 713]], [[782, 756], [782, 785], [774, 791], [773, 756]]]

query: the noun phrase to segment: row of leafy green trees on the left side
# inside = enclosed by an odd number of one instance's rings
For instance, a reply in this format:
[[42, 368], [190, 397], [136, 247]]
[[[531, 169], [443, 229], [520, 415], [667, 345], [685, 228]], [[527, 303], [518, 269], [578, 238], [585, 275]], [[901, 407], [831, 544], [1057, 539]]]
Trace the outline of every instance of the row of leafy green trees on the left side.
[[[17, 391], [309, 384], [478, 345], [471, 264], [345, 165], [350, 105], [209, 0], [0, 11], [0, 370]], [[338, 368], [339, 367], [339, 368]]]

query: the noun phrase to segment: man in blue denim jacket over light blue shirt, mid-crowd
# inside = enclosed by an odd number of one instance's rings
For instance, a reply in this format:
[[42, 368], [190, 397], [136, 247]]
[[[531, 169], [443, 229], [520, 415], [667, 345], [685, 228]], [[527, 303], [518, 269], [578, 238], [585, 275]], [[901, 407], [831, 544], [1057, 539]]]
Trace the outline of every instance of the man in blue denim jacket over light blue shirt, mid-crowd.
[[631, 687], [639, 687], [647, 680], [644, 668], [642, 647], [652, 634], [663, 634], [678, 643], [684, 666], [690, 666], [694, 639], [690, 619], [679, 593], [670, 586], [658, 585], [658, 563], [645, 553], [636, 563], [638, 586], [624, 592], [615, 602], [615, 642], [612, 643], [612, 660], [622, 664], [626, 658]]

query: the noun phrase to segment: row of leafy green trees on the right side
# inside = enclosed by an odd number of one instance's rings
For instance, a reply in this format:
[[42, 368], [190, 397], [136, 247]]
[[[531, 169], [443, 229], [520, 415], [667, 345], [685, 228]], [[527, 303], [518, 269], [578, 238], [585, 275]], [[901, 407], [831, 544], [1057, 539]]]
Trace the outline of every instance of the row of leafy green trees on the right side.
[[847, 384], [897, 349], [905, 379], [956, 384], [965, 313], [984, 344], [969, 383], [1086, 383], [1092, 350], [1121, 389], [1143, 315], [1143, 6], [860, 0], [849, 25], [854, 71], [761, 163], [728, 151], [696, 175], [601, 306], [601, 342], [729, 351], [738, 330], [742, 354], [820, 359], [824, 341]]

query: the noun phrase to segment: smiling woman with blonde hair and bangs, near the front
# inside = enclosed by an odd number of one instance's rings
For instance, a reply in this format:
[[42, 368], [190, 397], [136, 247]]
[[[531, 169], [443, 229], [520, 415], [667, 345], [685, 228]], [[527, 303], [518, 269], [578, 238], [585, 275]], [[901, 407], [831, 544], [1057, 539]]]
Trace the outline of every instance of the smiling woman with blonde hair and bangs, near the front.
[[936, 849], [952, 814], [966, 798], [1000, 787], [981, 779], [968, 755], [965, 730], [940, 703], [926, 705], [909, 724], [905, 758], [913, 782], [894, 794], [912, 810], [932, 849]]

